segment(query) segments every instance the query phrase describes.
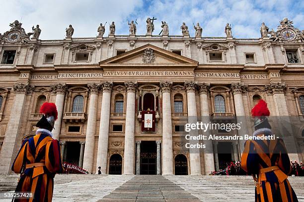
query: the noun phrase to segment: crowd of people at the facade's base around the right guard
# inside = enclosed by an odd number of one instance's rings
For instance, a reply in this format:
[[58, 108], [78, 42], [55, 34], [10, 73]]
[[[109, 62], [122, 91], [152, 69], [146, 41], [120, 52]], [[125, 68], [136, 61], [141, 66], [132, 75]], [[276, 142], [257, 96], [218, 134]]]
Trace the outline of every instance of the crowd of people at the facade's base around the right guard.
[[[295, 160], [291, 161], [292, 172], [291, 176], [304, 176], [304, 163], [300, 164]], [[246, 172], [241, 168], [240, 161], [231, 161], [227, 163], [227, 167], [219, 171], [213, 171], [210, 175], [246, 175]]]

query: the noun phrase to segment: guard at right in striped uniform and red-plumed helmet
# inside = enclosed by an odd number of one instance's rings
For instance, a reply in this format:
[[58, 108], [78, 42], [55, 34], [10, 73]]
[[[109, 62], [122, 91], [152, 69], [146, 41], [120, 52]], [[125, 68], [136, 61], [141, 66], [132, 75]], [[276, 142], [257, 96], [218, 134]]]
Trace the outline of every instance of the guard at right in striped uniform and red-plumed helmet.
[[[253, 136], [271, 136], [267, 103], [260, 100], [251, 110]], [[255, 181], [255, 202], [298, 202], [288, 181], [291, 164], [283, 139], [247, 140], [241, 166]]]

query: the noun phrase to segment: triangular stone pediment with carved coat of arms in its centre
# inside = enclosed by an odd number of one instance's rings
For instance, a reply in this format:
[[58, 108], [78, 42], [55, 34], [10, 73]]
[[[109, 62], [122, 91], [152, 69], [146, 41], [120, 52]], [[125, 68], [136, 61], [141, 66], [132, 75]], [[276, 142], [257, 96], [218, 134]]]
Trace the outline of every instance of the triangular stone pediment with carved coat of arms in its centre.
[[110, 57], [99, 62], [100, 66], [108, 65], [197, 65], [198, 61], [175, 54], [171, 51], [155, 47], [151, 44], [144, 45], [134, 50]]

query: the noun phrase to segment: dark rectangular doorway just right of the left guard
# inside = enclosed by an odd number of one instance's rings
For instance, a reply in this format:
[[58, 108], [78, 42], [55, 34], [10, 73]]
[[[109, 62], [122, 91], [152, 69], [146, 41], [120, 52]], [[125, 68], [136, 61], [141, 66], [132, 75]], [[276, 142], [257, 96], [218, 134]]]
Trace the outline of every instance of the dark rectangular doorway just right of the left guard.
[[78, 165], [80, 155], [79, 142], [67, 142], [64, 161]]

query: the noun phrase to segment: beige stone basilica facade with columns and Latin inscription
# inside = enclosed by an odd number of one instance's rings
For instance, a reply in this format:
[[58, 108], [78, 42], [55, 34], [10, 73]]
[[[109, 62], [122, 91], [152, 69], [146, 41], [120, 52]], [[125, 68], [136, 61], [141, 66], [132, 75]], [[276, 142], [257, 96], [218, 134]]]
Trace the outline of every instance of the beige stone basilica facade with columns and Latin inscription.
[[[289, 26], [283, 21], [281, 25]], [[295, 34], [287, 40], [281, 35], [280, 40], [111, 35], [24, 38], [26, 42], [2, 37], [0, 172], [10, 172], [22, 140], [35, 134], [41, 117], [37, 108], [44, 101], [58, 107], [53, 134], [64, 160], [74, 159], [72, 148], [78, 148], [76, 161], [90, 173], [98, 166], [109, 173], [111, 156], [118, 154], [121, 172], [138, 174], [141, 144], [154, 141], [155, 173], [174, 174], [176, 156], [182, 154], [188, 174], [209, 174], [219, 168], [219, 142], [205, 143], [212, 153], [181, 149], [186, 133], [176, 126], [193, 116], [197, 119], [191, 122], [209, 122], [207, 116], [250, 116], [256, 98], [266, 100], [274, 116], [297, 117], [294, 136], [300, 152], [291, 159], [303, 161], [304, 42], [297, 30]], [[141, 130], [146, 94], [154, 98], [155, 131]], [[219, 95], [224, 111], [216, 111]], [[175, 101], [181, 103], [179, 110]], [[243, 133], [250, 134], [252, 122], [247, 125]], [[231, 143], [232, 160], [240, 159], [242, 149], [242, 142]]]

